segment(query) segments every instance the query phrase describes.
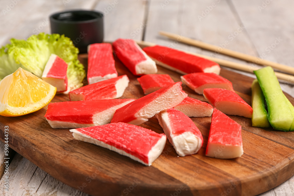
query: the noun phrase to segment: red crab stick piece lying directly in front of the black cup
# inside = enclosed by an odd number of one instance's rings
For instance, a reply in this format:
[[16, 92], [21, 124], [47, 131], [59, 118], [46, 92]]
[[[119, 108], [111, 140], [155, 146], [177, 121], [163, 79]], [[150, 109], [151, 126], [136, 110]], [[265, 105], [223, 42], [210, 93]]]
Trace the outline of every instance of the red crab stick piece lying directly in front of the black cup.
[[110, 43], [93, 43], [88, 46], [89, 84], [117, 77]]

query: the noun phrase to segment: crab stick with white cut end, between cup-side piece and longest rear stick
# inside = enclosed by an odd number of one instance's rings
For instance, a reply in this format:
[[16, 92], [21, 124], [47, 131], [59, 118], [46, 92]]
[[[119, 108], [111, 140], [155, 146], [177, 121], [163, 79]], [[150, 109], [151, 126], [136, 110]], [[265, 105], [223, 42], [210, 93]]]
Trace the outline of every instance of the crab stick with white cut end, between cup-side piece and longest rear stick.
[[156, 63], [132, 39], [117, 39], [112, 43], [114, 53], [136, 76], [157, 73]]

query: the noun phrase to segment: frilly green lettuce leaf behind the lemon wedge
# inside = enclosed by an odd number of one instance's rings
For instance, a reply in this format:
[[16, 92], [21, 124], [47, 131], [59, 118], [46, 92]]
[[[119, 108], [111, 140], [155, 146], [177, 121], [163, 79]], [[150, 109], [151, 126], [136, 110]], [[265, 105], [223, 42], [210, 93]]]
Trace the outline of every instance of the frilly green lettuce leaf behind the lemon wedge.
[[78, 61], [78, 48], [70, 38], [59, 34], [40, 33], [30, 36], [27, 40], [12, 38], [10, 41], [11, 44], [0, 49], [0, 79], [19, 67], [41, 78], [44, 67], [53, 53], [68, 64], [68, 91], [83, 86], [85, 70]]

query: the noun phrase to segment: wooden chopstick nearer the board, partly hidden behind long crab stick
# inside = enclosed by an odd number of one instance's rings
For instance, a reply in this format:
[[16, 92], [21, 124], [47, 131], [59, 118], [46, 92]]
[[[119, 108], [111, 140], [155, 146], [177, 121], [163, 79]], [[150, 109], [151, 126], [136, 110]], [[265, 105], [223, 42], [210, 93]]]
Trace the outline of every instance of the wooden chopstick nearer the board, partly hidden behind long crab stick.
[[[154, 46], [156, 45], [155, 43], [151, 43], [151, 42], [146, 42], [146, 41], [136, 41], [140, 46]], [[177, 49], [179, 50], [179, 49]], [[232, 61], [227, 61], [227, 60], [223, 60], [220, 58], [215, 58], [215, 57], [211, 57], [211, 56], [206, 56], [206, 55], [202, 55], [202, 54], [198, 54], [198, 53], [192, 53], [192, 52], [188, 52], [188, 51], [184, 51], [186, 53], [195, 55], [195, 56], [200, 56], [202, 58], [206, 58], [209, 59], [211, 61], [214, 61], [218, 64], [220, 64], [221, 66], [224, 67], [228, 67], [228, 68], [232, 68], [232, 69], [236, 69], [236, 70], [240, 70], [240, 71], [245, 71], [248, 73], [253, 73], [253, 71], [258, 70], [258, 67], [254, 67], [254, 66], [248, 66], [242, 63], [236, 63], [236, 62], [232, 62]], [[158, 63], [158, 65], [161, 65], [160, 63]], [[292, 75], [288, 75], [285, 73], [279, 73], [279, 72], [275, 72], [275, 75], [277, 76], [278, 79], [284, 80], [286, 83], [289, 84], [294, 84], [294, 76]]]

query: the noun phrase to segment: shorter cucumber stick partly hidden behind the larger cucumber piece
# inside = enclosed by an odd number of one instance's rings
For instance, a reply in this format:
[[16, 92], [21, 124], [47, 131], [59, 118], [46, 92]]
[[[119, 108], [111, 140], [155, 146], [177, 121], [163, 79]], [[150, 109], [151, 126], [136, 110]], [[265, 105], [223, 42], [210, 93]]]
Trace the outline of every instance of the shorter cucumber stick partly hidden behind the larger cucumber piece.
[[264, 96], [259, 86], [258, 80], [254, 80], [252, 89], [252, 126], [254, 127], [270, 127], [268, 121], [268, 113], [264, 107]]

